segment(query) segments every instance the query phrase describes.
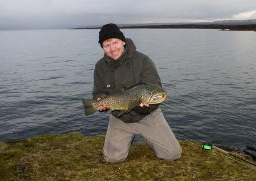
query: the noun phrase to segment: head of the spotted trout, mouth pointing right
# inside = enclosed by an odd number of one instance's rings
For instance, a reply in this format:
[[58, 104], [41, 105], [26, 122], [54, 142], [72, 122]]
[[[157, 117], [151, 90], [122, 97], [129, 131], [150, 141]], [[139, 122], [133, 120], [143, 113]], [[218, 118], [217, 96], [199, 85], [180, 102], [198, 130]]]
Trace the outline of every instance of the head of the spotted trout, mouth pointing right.
[[159, 104], [163, 102], [166, 97], [166, 91], [153, 84], [147, 84], [143, 91], [142, 102], [147, 104]]

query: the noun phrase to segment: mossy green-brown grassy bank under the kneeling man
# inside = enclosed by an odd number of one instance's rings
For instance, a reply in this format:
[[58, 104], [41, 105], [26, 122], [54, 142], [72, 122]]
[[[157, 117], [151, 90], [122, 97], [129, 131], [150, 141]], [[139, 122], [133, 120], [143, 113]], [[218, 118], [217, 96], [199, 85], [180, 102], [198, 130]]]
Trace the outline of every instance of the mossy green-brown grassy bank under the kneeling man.
[[114, 164], [102, 159], [103, 145], [104, 136], [79, 133], [0, 143], [0, 180], [256, 180], [255, 167], [202, 150], [201, 143], [180, 141], [182, 157], [173, 162], [136, 143]]

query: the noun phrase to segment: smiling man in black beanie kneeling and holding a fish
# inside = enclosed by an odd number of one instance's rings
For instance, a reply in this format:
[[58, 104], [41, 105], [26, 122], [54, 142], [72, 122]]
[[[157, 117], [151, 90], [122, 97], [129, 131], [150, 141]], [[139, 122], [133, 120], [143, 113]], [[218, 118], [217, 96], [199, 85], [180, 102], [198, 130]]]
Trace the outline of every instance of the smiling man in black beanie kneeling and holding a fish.
[[[161, 87], [154, 62], [136, 51], [132, 40], [126, 39], [117, 25], [104, 25], [99, 32], [99, 43], [105, 54], [95, 65], [93, 99], [99, 101], [103, 94], [113, 94], [137, 83], [153, 83]], [[102, 105], [99, 111], [108, 109], [108, 105]], [[147, 140], [157, 157], [170, 161], [179, 159], [179, 142], [158, 105], [141, 103], [120, 117], [118, 112], [111, 112], [109, 117], [103, 148], [107, 162], [124, 160], [135, 134], [141, 134]]]

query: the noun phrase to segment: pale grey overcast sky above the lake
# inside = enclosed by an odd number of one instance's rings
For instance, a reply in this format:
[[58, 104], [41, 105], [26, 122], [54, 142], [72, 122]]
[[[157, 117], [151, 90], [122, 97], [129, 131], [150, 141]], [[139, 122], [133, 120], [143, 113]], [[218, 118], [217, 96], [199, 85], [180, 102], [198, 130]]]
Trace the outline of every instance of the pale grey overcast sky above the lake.
[[255, 0], [0, 0], [0, 29], [256, 19]]

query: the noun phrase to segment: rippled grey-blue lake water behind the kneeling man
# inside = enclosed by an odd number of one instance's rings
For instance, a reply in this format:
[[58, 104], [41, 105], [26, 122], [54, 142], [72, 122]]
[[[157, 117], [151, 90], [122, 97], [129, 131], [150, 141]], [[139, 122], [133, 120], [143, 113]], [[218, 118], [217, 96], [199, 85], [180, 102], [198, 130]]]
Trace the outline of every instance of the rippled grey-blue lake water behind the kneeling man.
[[[179, 140], [256, 145], [256, 34], [124, 29], [156, 64], [161, 109]], [[0, 31], [0, 141], [77, 131], [106, 134], [108, 113], [85, 117], [99, 30]], [[140, 138], [139, 138], [140, 139]]]

